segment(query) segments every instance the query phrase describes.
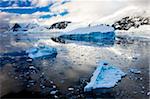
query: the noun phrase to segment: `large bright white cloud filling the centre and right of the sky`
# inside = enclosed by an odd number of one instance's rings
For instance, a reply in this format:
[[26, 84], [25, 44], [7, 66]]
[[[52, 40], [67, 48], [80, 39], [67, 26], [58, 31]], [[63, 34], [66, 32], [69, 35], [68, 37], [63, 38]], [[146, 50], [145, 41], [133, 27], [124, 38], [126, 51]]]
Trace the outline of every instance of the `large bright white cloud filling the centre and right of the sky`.
[[64, 20], [92, 22], [131, 6], [146, 9], [150, 5], [149, 0], [72, 0], [70, 3], [52, 6], [50, 9], [54, 12], [67, 9], [69, 14], [63, 17]]

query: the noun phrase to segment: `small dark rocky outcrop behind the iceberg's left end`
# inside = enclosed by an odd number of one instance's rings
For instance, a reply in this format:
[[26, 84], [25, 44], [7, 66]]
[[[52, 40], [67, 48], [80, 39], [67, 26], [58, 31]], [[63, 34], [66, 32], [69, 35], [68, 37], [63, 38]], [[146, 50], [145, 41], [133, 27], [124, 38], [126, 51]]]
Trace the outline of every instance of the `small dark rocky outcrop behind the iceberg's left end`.
[[49, 29], [65, 29], [71, 21], [57, 22], [51, 25]]

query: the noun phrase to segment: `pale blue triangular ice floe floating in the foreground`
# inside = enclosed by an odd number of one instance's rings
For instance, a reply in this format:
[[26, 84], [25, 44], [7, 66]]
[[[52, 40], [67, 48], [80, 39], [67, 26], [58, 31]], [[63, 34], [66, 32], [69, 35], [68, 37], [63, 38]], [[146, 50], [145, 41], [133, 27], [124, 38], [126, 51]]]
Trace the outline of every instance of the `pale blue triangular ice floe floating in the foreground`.
[[119, 68], [109, 65], [107, 62], [100, 62], [93, 73], [90, 82], [84, 87], [84, 91], [94, 89], [112, 88], [126, 74]]

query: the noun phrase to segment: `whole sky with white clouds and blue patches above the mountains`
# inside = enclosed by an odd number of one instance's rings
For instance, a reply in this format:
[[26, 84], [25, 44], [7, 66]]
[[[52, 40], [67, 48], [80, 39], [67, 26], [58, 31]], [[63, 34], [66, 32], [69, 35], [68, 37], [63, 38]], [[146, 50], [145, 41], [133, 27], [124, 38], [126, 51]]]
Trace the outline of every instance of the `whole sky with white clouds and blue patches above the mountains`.
[[150, 0], [0, 0], [0, 27], [11, 23], [91, 23], [116, 13], [148, 10]]

